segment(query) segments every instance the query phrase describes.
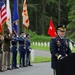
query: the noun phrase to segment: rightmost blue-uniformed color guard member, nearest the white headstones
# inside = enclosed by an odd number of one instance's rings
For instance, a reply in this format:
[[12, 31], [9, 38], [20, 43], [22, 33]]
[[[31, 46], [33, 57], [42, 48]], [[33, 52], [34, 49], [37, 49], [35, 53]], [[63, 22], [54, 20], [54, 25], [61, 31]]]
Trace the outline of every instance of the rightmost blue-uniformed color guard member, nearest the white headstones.
[[27, 65], [28, 66], [32, 66], [31, 63], [30, 63], [30, 35], [29, 34], [26, 34], [26, 53], [27, 53]]

